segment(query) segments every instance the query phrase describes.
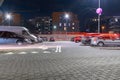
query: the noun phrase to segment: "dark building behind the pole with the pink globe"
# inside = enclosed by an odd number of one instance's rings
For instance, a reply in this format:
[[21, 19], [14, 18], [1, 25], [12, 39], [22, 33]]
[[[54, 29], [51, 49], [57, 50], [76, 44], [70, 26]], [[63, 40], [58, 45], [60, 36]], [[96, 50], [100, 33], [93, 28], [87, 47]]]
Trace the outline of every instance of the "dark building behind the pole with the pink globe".
[[[109, 32], [109, 23], [111, 16], [101, 16], [100, 18], [100, 32]], [[85, 22], [85, 27], [87, 32], [98, 32], [98, 18], [89, 18]]]

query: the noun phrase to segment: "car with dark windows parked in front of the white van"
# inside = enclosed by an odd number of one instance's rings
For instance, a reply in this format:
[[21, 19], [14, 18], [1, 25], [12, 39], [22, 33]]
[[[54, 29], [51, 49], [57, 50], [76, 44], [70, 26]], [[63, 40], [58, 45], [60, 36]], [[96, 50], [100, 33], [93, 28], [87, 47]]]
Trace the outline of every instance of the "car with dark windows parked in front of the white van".
[[20, 36], [14, 32], [0, 31], [0, 44], [18, 44], [32, 43], [31, 40]]

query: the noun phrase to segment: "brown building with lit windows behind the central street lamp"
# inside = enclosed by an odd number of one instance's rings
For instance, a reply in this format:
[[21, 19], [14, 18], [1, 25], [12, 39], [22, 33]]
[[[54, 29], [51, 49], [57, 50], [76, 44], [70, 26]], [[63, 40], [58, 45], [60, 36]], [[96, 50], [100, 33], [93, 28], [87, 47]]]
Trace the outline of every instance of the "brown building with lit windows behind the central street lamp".
[[79, 20], [72, 12], [53, 12], [53, 33], [79, 32]]

